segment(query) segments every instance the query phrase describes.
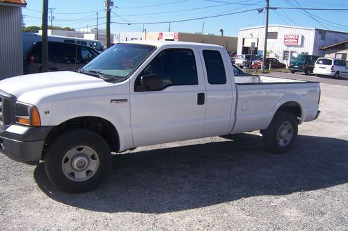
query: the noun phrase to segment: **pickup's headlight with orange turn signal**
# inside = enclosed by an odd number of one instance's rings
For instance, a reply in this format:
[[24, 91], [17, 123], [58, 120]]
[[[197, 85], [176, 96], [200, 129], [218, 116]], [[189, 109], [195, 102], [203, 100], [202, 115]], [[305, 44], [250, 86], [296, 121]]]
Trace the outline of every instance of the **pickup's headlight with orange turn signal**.
[[17, 102], [15, 105], [15, 117], [16, 123], [33, 127], [41, 126], [40, 114], [38, 108], [34, 105]]

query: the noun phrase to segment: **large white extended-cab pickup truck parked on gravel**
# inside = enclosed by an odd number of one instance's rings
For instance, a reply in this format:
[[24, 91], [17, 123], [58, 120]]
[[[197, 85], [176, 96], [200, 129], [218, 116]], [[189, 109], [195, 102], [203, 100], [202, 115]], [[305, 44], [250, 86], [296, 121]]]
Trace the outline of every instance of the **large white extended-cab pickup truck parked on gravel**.
[[284, 153], [319, 100], [319, 83], [235, 77], [222, 46], [115, 44], [78, 73], [1, 80], [0, 151], [44, 161], [57, 187], [82, 192], [102, 182], [111, 155], [138, 146], [260, 130]]

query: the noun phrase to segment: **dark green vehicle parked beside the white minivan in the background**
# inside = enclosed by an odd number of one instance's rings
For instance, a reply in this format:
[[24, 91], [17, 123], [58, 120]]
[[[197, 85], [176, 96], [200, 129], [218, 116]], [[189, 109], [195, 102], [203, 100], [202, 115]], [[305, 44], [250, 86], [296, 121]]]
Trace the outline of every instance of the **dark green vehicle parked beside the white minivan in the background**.
[[303, 71], [306, 75], [313, 73], [315, 61], [319, 56], [299, 54], [297, 56], [292, 56], [290, 60], [290, 72], [294, 74], [298, 71]]

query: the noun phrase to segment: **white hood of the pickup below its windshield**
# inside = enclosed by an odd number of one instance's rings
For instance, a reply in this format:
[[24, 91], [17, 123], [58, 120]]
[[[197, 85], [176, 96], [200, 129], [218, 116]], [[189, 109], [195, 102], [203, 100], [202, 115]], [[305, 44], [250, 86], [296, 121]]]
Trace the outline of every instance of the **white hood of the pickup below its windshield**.
[[36, 103], [55, 94], [79, 92], [108, 85], [111, 83], [106, 83], [100, 78], [72, 71], [30, 74], [0, 81], [1, 90], [26, 103]]

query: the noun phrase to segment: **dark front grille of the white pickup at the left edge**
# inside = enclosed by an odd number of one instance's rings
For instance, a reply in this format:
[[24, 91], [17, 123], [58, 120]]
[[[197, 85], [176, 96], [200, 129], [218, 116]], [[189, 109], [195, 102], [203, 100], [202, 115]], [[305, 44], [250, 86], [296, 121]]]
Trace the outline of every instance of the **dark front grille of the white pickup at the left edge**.
[[0, 127], [5, 129], [14, 117], [15, 96], [0, 90]]

